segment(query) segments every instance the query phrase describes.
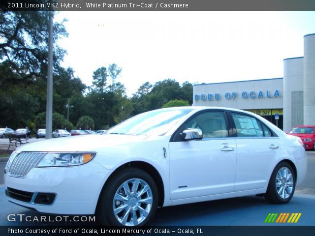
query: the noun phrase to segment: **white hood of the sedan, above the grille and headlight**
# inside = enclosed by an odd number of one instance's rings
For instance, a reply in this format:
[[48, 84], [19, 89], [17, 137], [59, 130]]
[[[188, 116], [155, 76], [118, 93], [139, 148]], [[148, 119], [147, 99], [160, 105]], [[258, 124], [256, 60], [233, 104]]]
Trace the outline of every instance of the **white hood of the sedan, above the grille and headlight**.
[[77, 135], [63, 138], [49, 139], [22, 145], [17, 148], [21, 151], [97, 151], [99, 148], [115, 147], [130, 144], [146, 139], [146, 136], [132, 135]]

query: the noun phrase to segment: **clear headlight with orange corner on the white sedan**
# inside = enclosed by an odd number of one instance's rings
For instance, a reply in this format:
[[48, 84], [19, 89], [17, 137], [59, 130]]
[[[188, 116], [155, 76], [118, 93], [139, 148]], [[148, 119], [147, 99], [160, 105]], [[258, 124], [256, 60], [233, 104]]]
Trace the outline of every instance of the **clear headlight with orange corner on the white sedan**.
[[96, 153], [47, 153], [36, 167], [78, 166], [88, 163]]

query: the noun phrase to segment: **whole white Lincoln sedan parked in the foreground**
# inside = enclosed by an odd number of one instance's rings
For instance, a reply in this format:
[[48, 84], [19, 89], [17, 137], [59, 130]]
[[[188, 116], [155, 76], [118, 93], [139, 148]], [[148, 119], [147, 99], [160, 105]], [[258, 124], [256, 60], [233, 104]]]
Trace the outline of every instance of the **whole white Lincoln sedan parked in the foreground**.
[[245, 195], [290, 201], [306, 175], [300, 138], [236, 109], [140, 114], [103, 135], [23, 145], [5, 168], [10, 202], [104, 225], [148, 223], [157, 207]]

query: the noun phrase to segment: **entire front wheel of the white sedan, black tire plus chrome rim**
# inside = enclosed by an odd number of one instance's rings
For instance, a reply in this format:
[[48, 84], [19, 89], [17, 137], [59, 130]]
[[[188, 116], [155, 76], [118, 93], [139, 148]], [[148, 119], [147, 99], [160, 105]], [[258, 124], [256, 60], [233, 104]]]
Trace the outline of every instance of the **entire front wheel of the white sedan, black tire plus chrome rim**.
[[138, 168], [127, 168], [116, 173], [103, 187], [96, 215], [102, 225], [135, 228], [152, 220], [157, 207], [158, 188], [153, 178]]

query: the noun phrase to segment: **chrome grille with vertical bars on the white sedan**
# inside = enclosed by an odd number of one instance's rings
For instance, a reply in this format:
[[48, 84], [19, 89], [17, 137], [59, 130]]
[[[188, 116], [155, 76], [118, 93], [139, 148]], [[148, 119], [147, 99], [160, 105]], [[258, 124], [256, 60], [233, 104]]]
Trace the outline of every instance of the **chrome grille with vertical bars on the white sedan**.
[[18, 154], [8, 169], [9, 176], [24, 178], [41, 161], [47, 153], [21, 152]]

